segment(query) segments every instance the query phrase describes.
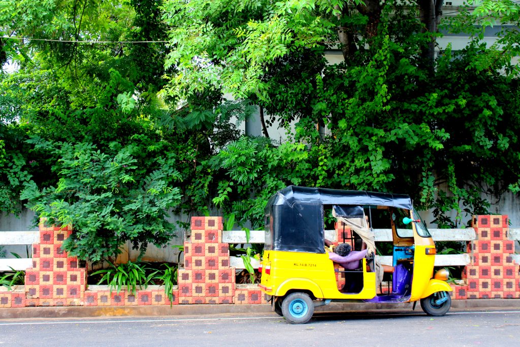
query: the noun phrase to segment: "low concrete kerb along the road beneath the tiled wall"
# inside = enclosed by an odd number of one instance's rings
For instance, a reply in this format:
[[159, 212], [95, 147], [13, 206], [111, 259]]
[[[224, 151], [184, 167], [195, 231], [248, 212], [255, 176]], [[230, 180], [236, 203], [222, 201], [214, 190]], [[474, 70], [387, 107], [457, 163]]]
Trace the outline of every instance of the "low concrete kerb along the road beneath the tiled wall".
[[[453, 300], [451, 310], [466, 309], [509, 309], [520, 310], [520, 299], [467, 299]], [[359, 312], [359, 311], [412, 311], [412, 303], [381, 304], [381, 303], [331, 303], [317, 307], [315, 312]], [[416, 312], [422, 312], [421, 305], [415, 306]], [[19, 309], [0, 309], [0, 319], [14, 318], [85, 318], [112, 316], [193, 316], [228, 313], [269, 313], [269, 304], [258, 305], [173, 305], [164, 306], [39, 306], [21, 307]]]

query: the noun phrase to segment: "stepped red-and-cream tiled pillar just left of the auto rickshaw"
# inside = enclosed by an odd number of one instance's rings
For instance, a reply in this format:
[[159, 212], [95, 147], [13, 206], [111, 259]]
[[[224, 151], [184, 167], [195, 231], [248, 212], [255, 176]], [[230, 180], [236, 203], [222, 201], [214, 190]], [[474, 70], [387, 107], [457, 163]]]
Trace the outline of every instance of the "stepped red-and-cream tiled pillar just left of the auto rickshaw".
[[222, 242], [222, 217], [192, 217], [179, 268], [179, 304], [230, 304], [235, 296], [235, 268], [229, 245]]

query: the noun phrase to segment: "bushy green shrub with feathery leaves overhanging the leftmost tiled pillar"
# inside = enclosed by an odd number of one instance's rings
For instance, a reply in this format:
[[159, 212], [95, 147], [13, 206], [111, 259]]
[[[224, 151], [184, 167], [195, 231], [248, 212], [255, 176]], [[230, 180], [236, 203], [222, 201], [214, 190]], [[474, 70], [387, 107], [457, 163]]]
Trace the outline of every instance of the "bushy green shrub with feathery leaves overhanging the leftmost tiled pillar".
[[163, 246], [174, 235], [173, 224], [165, 220], [181, 198], [179, 188], [172, 187], [179, 179], [172, 156], [146, 158], [156, 148], [136, 143], [111, 143], [109, 154], [92, 144], [38, 141], [37, 148], [60, 158], [59, 181], [42, 189], [28, 184], [22, 198], [30, 200], [37, 216], [74, 226], [64, 250], [98, 262], [119, 254], [126, 241], [144, 252], [149, 242]]

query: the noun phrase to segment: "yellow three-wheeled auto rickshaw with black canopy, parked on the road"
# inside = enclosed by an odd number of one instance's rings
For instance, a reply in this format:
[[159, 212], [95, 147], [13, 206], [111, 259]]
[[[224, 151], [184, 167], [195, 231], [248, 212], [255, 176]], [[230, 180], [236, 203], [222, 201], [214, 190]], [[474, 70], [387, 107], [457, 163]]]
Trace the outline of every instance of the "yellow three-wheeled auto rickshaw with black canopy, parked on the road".
[[[331, 219], [347, 230], [336, 242], [350, 243], [357, 255], [365, 249], [354, 265], [346, 261], [352, 254], [335, 263], [337, 254], [326, 251], [324, 221]], [[375, 256], [373, 225], [382, 223], [392, 233], [392, 264], [380, 264]], [[289, 186], [265, 208], [259, 287], [270, 295], [272, 309], [292, 324], [307, 323], [315, 307], [331, 301], [415, 306], [420, 300], [427, 315], [445, 315], [452, 289], [446, 269], [434, 276], [434, 261], [432, 236], [407, 195]], [[388, 292], [381, 290], [385, 273], [392, 277]]]

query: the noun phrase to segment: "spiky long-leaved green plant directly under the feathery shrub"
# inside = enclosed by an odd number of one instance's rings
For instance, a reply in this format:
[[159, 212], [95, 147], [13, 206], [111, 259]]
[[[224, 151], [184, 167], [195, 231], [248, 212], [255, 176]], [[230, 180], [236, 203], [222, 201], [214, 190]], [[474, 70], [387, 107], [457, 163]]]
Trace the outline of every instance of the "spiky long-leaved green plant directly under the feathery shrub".
[[106, 283], [110, 291], [115, 289], [119, 293], [121, 289], [126, 289], [127, 292], [135, 295], [137, 287], [146, 289], [150, 280], [157, 275], [157, 271], [148, 275], [147, 271], [149, 271], [147, 263], [129, 261], [119, 265], [110, 263], [109, 268], [98, 270], [90, 276], [102, 275], [98, 285]]

